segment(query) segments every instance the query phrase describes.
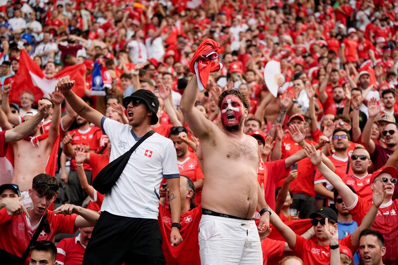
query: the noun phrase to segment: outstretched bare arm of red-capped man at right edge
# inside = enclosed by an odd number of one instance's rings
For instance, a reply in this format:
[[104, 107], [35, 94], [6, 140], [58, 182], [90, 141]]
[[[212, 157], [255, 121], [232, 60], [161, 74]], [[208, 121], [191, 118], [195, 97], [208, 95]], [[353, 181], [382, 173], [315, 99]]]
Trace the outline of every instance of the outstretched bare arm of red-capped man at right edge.
[[341, 195], [344, 203], [346, 205], [352, 205], [356, 200], [356, 194], [351, 191], [351, 189], [343, 182], [343, 180], [337, 176], [333, 171], [331, 171], [325, 164], [322, 162], [321, 151], [316, 151], [315, 147], [311, 144], [311, 146], [305, 147], [305, 155], [309, 158], [311, 163], [318, 168], [320, 173], [333, 185], [335, 189], [337, 189], [338, 193]]

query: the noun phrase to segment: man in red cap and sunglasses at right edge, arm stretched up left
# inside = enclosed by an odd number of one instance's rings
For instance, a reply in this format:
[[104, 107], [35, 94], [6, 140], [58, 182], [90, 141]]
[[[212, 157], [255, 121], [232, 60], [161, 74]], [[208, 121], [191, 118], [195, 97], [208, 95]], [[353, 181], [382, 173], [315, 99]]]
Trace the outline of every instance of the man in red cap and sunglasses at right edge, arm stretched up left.
[[[365, 222], [365, 214], [374, 208], [375, 201], [372, 204], [372, 202], [366, 201], [352, 192], [339, 176], [321, 162], [321, 155], [315, 148], [307, 148], [306, 152], [312, 164], [339, 192], [344, 204], [352, 214], [353, 220], [362, 226]], [[376, 216], [372, 225], [372, 228], [381, 232], [386, 239], [387, 253], [384, 257], [386, 264], [398, 263], [398, 255], [395, 253], [398, 249], [398, 200], [392, 200], [394, 187], [397, 183], [397, 173], [397, 168], [387, 166], [375, 171], [370, 177], [370, 187], [373, 194], [380, 189], [386, 190], [386, 196], [380, 205], [380, 213]]]

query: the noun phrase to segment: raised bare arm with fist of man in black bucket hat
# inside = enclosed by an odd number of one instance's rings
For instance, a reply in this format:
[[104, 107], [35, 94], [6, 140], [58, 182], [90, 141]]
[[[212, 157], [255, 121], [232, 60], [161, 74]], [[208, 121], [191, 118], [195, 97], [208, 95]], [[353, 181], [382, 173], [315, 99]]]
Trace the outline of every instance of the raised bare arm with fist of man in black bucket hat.
[[77, 96], [71, 89], [75, 85], [74, 80], [63, 79], [58, 82], [57, 87], [65, 96], [65, 99], [69, 102], [72, 109], [76, 111], [77, 114], [87, 119], [88, 121], [94, 123], [96, 126], [101, 127], [101, 118], [103, 115], [90, 107], [82, 98]]

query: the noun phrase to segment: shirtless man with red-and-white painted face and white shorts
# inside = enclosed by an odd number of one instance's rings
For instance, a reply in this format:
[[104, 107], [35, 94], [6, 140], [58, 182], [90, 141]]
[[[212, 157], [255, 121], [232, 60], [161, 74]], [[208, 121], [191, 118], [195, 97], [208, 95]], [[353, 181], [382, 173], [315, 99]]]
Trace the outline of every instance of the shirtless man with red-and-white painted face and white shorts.
[[[249, 100], [237, 90], [222, 92], [219, 128], [195, 107], [197, 96], [194, 75], [180, 108], [203, 154], [201, 264], [262, 264], [259, 233], [269, 233], [270, 212], [257, 181], [257, 140], [243, 133]], [[253, 218], [256, 209], [261, 215], [258, 231]]]

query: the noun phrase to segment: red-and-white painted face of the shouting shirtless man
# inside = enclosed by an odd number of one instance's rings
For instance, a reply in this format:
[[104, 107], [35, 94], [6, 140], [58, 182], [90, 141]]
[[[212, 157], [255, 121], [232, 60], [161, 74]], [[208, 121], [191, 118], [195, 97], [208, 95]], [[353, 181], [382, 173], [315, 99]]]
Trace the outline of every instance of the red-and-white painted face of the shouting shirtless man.
[[239, 125], [242, 120], [242, 102], [236, 95], [227, 95], [221, 102], [221, 121], [224, 126]]

